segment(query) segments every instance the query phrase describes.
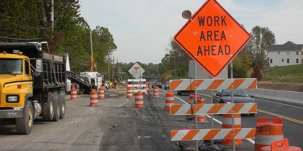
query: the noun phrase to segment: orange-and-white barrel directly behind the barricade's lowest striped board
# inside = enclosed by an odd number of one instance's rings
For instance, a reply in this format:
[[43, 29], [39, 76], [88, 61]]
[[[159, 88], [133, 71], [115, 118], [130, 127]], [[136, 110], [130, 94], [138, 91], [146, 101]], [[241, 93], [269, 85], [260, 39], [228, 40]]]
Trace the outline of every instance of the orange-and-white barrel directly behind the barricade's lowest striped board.
[[[232, 128], [232, 114], [223, 114], [222, 129]], [[235, 128], [241, 128], [241, 114], [234, 114]], [[222, 145], [225, 148], [232, 148], [232, 140], [223, 140]], [[242, 144], [242, 139], [235, 139], [235, 146], [237, 149], [248, 148], [247, 145]]]

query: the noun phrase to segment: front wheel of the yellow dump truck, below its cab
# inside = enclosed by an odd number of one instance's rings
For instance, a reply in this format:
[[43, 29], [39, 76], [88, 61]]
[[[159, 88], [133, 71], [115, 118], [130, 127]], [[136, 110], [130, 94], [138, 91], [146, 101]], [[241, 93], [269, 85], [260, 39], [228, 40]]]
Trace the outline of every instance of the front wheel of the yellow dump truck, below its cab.
[[16, 118], [16, 129], [19, 134], [27, 135], [31, 133], [34, 121], [33, 106], [30, 101], [27, 101], [27, 105], [23, 108], [22, 114], [22, 117]]

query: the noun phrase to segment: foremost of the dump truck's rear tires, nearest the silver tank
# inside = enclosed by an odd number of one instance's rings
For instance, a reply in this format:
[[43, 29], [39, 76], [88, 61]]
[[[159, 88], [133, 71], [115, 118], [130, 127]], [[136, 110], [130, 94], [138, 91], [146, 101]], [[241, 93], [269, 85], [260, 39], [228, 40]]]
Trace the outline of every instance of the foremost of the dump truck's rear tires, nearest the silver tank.
[[55, 99], [54, 99], [54, 95], [51, 93], [47, 100], [47, 104], [43, 105], [42, 118], [45, 121], [51, 121], [53, 120], [54, 115], [55, 115]]

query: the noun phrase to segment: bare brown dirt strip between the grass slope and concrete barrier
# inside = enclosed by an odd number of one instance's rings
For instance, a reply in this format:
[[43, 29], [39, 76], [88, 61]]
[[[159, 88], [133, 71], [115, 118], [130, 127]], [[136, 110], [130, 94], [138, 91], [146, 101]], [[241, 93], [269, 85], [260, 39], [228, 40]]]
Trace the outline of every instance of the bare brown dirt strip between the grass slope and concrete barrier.
[[303, 92], [303, 83], [258, 81], [258, 88], [269, 89], [269, 90]]

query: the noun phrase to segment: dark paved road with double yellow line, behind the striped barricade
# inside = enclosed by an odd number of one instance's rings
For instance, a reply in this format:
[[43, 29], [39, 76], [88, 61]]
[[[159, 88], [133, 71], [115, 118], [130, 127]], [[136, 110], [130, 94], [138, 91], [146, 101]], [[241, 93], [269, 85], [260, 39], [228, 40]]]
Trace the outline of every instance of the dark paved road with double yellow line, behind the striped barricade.
[[[187, 102], [188, 95], [178, 96], [176, 91], [173, 92], [175, 96]], [[197, 92], [199, 96], [205, 99], [205, 103], [211, 103], [210, 91], [198, 90]], [[301, 140], [303, 140], [303, 105], [261, 98], [254, 99], [257, 103], [258, 113], [256, 113], [255, 116], [249, 116], [248, 114], [242, 115], [242, 128], [255, 127], [258, 117], [281, 118], [283, 120], [284, 138], [289, 140], [290, 145], [303, 148], [301, 142]], [[221, 115], [214, 115], [214, 118], [222, 121]]]

